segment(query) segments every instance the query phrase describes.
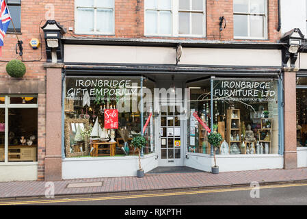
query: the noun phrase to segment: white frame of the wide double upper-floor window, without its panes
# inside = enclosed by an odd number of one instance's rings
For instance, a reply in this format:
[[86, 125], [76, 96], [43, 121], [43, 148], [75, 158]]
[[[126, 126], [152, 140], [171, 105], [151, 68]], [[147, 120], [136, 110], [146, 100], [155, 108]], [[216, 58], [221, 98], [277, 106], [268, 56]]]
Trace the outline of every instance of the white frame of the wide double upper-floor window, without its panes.
[[[159, 0], [158, 0], [159, 1]], [[191, 8], [191, 2], [190, 1], [190, 8]], [[202, 4], [202, 11], [199, 10], [179, 10], [179, 0], [171, 0], [171, 10], [170, 12], [172, 13], [172, 27], [171, 27], [171, 34], [147, 34], [146, 33], [146, 1], [144, 4], [144, 36], [146, 37], [151, 37], [151, 36], [161, 36], [161, 37], [187, 37], [187, 38], [206, 38], [206, 0], [202, 0], [203, 4]], [[153, 10], [153, 9], [149, 9], [149, 10]], [[159, 11], [159, 10], [157, 10]], [[168, 10], [163, 10], [163, 11], [168, 11]], [[202, 13], [202, 21], [203, 21], [203, 25], [202, 25], [202, 32], [203, 34], [179, 34], [179, 12], [189, 12], [190, 14], [190, 18], [191, 18], [191, 14], [194, 12], [198, 12], [198, 13]], [[159, 29], [159, 13], [158, 13], [158, 21], [157, 21], [158, 25], [157, 28]], [[189, 23], [189, 28], [190, 28], [190, 32], [191, 32], [191, 19], [190, 19], [190, 23]]]

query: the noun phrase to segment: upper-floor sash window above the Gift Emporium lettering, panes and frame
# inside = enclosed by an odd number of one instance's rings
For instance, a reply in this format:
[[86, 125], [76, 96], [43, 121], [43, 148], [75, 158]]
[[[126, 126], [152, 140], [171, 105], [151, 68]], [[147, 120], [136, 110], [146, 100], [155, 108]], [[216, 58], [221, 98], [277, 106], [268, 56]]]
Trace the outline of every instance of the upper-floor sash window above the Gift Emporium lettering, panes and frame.
[[75, 0], [77, 34], [114, 34], [114, 0]]

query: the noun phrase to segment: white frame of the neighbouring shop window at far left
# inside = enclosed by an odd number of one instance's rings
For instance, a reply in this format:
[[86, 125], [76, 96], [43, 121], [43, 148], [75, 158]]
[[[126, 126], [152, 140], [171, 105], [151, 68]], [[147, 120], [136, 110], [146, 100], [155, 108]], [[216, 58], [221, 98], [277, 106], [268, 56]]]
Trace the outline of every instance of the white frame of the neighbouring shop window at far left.
[[31, 96], [38, 99], [37, 94], [16, 94], [16, 95], [8, 95], [8, 94], [0, 94], [0, 96], [5, 96], [5, 102], [4, 104], [0, 104], [1, 109], [5, 109], [4, 114], [4, 120], [5, 120], [5, 131], [4, 131], [4, 162], [0, 162], [1, 165], [16, 165], [16, 164], [38, 164], [38, 161], [36, 162], [9, 162], [8, 160], [8, 133], [9, 133], [9, 127], [8, 127], [8, 110], [10, 108], [18, 108], [18, 109], [38, 109], [38, 102], [37, 103], [31, 103], [31, 104], [25, 104], [25, 103], [10, 103], [10, 97], [20, 97], [20, 96]]

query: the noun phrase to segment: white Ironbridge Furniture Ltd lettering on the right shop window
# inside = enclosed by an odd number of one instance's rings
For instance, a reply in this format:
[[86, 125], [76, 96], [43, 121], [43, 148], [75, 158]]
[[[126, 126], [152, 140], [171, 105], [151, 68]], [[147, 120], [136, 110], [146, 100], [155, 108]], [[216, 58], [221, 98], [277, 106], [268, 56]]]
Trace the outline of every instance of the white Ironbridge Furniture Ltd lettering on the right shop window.
[[276, 101], [276, 81], [215, 81], [215, 98], [228, 101]]

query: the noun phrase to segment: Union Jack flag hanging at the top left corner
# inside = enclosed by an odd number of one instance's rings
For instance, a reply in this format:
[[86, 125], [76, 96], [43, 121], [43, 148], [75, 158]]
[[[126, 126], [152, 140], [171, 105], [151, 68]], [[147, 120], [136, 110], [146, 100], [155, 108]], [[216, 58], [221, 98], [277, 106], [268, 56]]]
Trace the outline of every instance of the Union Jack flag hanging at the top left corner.
[[1, 49], [3, 47], [4, 44], [4, 37], [5, 37], [5, 33], [8, 29], [8, 25], [10, 25], [10, 21], [11, 21], [11, 16], [10, 16], [10, 12], [8, 10], [8, 6], [5, 3], [5, 0], [1, 0], [1, 5], [0, 5], [0, 9], [1, 9], [1, 14], [0, 14], [0, 55], [1, 54]]

